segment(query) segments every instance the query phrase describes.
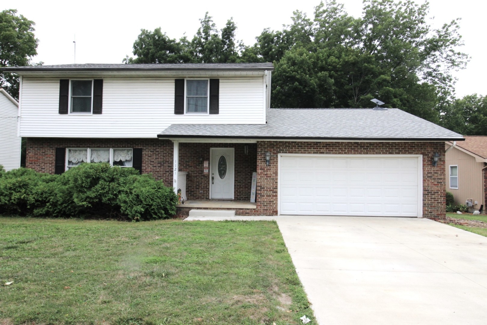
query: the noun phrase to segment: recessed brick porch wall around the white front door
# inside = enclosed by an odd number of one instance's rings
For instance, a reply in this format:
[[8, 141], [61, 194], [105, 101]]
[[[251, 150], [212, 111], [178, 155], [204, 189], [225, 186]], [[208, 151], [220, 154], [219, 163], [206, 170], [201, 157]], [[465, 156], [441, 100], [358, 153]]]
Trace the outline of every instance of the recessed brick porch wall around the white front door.
[[[245, 154], [245, 146], [248, 148], [247, 154]], [[234, 199], [236, 201], [250, 201], [252, 172], [257, 171], [257, 144], [255, 143], [180, 143], [179, 171], [188, 172], [186, 178], [187, 199], [207, 200], [209, 198], [211, 170], [207, 174], [203, 172], [203, 161], [210, 160], [210, 148], [235, 149]]]

